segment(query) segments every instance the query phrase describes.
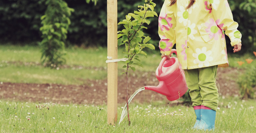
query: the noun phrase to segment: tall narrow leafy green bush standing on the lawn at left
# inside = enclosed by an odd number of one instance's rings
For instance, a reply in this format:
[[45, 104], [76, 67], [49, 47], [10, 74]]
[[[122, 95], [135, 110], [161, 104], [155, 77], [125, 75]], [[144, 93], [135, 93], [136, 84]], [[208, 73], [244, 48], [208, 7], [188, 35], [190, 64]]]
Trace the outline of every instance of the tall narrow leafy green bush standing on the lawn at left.
[[65, 62], [63, 50], [67, 38], [67, 29], [70, 25], [71, 12], [63, 0], [47, 0], [45, 15], [41, 17], [43, 26], [40, 28], [43, 40], [41, 42], [42, 59], [46, 66], [57, 67]]

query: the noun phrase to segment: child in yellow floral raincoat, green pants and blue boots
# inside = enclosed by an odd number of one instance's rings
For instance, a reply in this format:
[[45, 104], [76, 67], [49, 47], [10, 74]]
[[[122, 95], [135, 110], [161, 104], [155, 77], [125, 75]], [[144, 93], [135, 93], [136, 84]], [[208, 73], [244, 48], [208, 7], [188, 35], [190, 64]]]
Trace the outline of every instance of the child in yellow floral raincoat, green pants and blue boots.
[[227, 0], [165, 0], [159, 19], [159, 48], [170, 59], [176, 44], [196, 114], [195, 129], [214, 130], [218, 107], [217, 67], [228, 67], [225, 34], [234, 53], [241, 33]]

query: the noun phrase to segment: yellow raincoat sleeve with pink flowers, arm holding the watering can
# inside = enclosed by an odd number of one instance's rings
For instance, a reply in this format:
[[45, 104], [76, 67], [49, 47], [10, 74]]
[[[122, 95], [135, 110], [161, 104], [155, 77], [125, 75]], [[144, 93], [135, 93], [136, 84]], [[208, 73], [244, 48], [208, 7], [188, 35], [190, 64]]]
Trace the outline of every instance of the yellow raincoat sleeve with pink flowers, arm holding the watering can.
[[170, 1], [165, 0], [158, 19], [158, 34], [161, 40], [159, 48], [163, 55], [170, 55], [175, 41], [176, 19], [174, 8], [176, 4], [169, 6]]

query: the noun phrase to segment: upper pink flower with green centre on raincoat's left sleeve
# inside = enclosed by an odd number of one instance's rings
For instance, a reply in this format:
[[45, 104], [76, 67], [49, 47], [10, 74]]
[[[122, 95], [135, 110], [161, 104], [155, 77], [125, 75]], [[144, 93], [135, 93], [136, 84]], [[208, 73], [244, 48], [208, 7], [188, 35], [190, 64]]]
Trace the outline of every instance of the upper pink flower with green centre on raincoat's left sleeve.
[[171, 23], [172, 18], [167, 18], [167, 14], [163, 16], [159, 16], [158, 18], [158, 26], [160, 27], [161, 31], [167, 30], [169, 31], [169, 28], [172, 28], [172, 23]]

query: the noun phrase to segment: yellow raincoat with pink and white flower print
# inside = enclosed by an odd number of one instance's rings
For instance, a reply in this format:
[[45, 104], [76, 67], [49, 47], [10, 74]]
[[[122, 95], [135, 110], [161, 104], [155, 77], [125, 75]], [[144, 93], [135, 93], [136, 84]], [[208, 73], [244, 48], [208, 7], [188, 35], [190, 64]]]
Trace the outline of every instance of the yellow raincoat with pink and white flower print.
[[170, 55], [176, 44], [182, 69], [228, 67], [224, 31], [231, 46], [241, 43], [242, 36], [228, 1], [196, 0], [188, 10], [189, 0], [177, 0], [172, 6], [169, 3], [165, 0], [158, 19], [161, 53]]

